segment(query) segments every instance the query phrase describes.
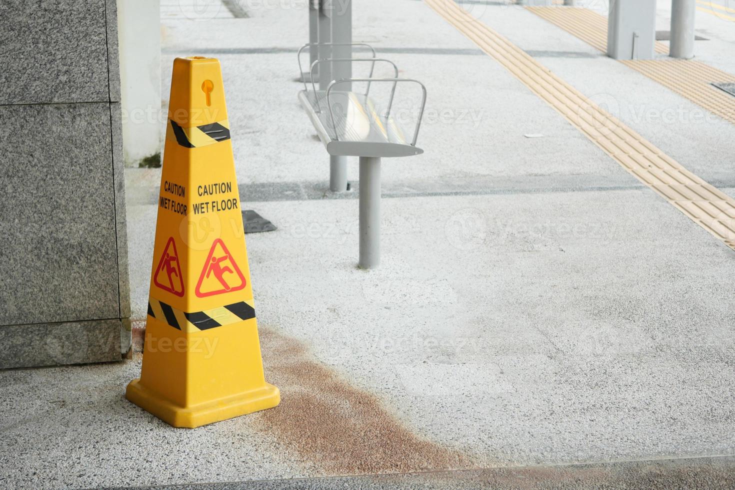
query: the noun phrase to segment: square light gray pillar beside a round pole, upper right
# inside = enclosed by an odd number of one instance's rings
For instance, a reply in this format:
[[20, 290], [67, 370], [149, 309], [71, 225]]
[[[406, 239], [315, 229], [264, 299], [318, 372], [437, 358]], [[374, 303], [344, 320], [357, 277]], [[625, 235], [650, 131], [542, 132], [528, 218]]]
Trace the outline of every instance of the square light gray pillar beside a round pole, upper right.
[[615, 0], [607, 19], [607, 55], [650, 60], [656, 43], [656, 0]]

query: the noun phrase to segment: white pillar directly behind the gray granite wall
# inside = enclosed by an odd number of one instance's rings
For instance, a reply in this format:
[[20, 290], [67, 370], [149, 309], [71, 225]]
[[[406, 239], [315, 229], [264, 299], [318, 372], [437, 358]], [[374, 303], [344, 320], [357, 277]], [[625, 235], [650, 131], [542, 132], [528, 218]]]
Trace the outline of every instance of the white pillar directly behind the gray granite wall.
[[[161, 152], [161, 17], [159, 0], [118, 2], [125, 165]], [[151, 160], [152, 158], [152, 160]]]

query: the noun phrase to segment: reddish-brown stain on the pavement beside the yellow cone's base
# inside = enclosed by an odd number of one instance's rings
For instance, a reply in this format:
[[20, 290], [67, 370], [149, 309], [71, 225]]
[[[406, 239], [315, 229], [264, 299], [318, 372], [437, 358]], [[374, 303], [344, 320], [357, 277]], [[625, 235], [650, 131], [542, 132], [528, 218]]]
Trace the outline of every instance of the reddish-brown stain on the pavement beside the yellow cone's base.
[[266, 380], [281, 390], [259, 412], [268, 430], [309, 463], [334, 475], [468, 468], [470, 458], [413, 433], [373, 394], [350, 386], [304, 344], [259, 328]]

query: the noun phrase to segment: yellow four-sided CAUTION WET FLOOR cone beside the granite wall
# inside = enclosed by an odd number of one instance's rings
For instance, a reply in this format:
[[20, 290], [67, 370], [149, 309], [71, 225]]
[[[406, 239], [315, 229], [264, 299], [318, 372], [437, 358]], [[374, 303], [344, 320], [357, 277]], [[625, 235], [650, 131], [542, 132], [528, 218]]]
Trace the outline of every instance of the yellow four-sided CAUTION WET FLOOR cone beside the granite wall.
[[126, 397], [174, 427], [278, 405], [265, 382], [220, 63], [173, 61], [140, 378]]

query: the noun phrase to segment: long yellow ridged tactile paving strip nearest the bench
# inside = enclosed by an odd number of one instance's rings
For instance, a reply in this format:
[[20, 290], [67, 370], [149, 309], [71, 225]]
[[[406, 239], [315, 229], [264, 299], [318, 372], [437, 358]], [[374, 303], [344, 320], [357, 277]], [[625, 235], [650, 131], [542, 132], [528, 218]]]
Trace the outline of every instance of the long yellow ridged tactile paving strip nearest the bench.
[[505, 37], [452, 0], [424, 0], [495, 58], [615, 161], [714, 237], [735, 249], [735, 201], [593, 104]]

